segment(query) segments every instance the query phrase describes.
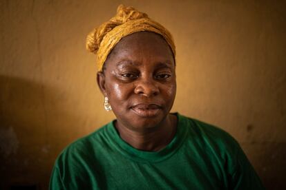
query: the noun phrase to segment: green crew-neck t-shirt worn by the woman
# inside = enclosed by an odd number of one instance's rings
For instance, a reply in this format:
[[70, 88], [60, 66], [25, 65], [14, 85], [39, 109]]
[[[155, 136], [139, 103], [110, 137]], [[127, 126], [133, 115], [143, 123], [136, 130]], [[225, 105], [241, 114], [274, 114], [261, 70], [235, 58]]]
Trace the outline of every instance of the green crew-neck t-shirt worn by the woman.
[[114, 121], [66, 147], [50, 189], [264, 189], [227, 132], [180, 114], [173, 140], [157, 152], [120, 138]]

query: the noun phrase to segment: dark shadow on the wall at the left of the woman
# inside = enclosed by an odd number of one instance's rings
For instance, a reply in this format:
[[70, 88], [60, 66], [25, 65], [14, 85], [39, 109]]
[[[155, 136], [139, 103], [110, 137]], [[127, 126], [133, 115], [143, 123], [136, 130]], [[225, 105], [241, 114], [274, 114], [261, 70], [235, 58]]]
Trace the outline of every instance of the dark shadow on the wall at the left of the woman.
[[[77, 136], [79, 118], [53, 87], [0, 76], [0, 92], [0, 189], [47, 189], [55, 158]], [[72, 126], [69, 134], [63, 126]]]

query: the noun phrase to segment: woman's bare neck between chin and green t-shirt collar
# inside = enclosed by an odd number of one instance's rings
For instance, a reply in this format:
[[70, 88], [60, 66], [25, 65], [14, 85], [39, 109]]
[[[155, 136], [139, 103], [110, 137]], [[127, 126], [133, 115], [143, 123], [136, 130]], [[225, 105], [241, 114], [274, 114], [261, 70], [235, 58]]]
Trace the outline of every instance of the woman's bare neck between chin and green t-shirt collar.
[[120, 137], [135, 149], [160, 151], [171, 142], [177, 128], [177, 116], [169, 114], [160, 126], [148, 131], [134, 131], [115, 123]]

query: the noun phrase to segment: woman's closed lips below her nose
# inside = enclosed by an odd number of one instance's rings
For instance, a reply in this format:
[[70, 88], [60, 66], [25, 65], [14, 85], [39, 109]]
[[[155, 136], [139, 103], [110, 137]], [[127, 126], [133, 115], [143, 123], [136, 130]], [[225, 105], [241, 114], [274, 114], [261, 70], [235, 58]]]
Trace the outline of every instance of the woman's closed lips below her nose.
[[155, 104], [137, 104], [131, 107], [133, 112], [141, 117], [154, 117], [159, 114], [159, 112], [162, 110], [162, 107], [160, 105]]

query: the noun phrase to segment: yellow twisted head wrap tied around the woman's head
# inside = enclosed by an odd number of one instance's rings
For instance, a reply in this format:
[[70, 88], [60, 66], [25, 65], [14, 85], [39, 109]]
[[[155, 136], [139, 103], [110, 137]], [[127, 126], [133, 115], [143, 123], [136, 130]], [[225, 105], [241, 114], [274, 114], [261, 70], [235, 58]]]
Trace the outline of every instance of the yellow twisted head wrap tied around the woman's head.
[[151, 20], [146, 13], [122, 5], [118, 6], [115, 17], [88, 34], [86, 49], [97, 55], [98, 70], [102, 71], [104, 62], [115, 45], [125, 36], [142, 31], [155, 32], [163, 36], [175, 56], [173, 37], [166, 28]]

